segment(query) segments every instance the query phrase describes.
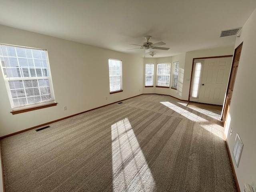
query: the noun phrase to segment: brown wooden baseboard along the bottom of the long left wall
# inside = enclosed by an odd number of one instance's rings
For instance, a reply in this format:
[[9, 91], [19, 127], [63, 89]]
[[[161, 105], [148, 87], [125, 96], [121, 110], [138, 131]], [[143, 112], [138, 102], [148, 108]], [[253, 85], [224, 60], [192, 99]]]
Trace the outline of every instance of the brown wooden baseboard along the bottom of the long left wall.
[[[142, 95], [142, 94], [140, 94], [140, 95]], [[134, 98], [134, 97], [137, 97], [137, 96], [139, 96], [139, 95], [136, 95], [136, 96], [133, 96], [133, 97], [130, 97], [130, 98]], [[127, 98], [127, 99], [130, 99], [130, 98]], [[127, 100], [127, 99], [123, 99], [123, 100], [120, 100], [120, 101], [124, 101], [124, 100]], [[117, 103], [117, 102], [120, 102], [120, 101], [116, 101], [116, 102], [113, 102], [113, 103], [110, 103], [110, 104], [106, 104], [104, 106], [96, 107], [96, 108], [93, 108], [93, 109], [90, 109], [90, 110], [87, 110], [87, 111], [83, 111], [83, 112], [80, 112], [80, 113], [77, 113], [77, 114], [74, 114], [74, 115], [70, 115], [70, 116], [67, 116], [67, 117], [64, 117], [64, 118], [60, 118], [60, 119], [57, 119], [57, 120], [54, 120], [54, 121], [50, 121], [50, 122], [47, 122], [47, 123], [44, 123], [44, 124], [40, 124], [40, 125], [31, 127], [31, 128], [28, 128], [28, 129], [24, 129], [24, 130], [21, 130], [21, 131], [18, 131], [18, 132], [14, 132], [14, 133], [5, 135], [5, 136], [1, 136], [0, 140], [3, 139], [3, 138], [6, 138], [6, 137], [10, 137], [10, 136], [28, 131], [28, 130], [32, 130], [32, 129], [35, 129], [35, 128], [38, 128], [38, 127], [42, 127], [42, 126], [45, 126], [45, 125], [48, 125], [48, 124], [55, 123], [57, 121], [61, 121], [61, 120], [64, 120], [64, 119], [67, 119], [67, 118], [70, 118], [70, 117], [74, 117], [76, 115], [80, 115], [80, 114], [83, 114], [83, 113], [86, 113], [86, 112], [89, 112], [89, 111], [92, 111], [92, 110], [95, 110], [95, 109], [98, 109], [98, 108], [102, 108], [102, 107], [105, 107], [105, 106], [108, 106], [108, 105], [111, 105], [111, 104], [114, 104], [114, 103]]]

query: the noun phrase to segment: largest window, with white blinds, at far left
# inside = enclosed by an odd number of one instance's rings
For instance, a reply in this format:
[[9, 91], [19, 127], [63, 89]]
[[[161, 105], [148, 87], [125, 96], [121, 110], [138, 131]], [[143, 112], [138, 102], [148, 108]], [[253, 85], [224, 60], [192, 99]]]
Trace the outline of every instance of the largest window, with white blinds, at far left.
[[55, 103], [46, 50], [0, 44], [0, 60], [12, 110]]

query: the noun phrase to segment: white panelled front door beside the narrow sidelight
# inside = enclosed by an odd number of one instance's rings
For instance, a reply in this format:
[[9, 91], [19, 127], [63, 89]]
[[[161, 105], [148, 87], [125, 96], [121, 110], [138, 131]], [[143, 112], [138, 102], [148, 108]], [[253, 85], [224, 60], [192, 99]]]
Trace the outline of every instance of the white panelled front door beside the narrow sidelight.
[[198, 102], [223, 105], [232, 57], [204, 60]]

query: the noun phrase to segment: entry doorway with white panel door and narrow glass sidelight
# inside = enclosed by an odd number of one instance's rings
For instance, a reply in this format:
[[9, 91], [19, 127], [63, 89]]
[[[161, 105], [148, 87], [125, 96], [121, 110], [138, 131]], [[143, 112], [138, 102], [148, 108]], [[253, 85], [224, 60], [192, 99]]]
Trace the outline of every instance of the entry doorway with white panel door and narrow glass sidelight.
[[193, 59], [190, 101], [223, 105], [232, 55]]

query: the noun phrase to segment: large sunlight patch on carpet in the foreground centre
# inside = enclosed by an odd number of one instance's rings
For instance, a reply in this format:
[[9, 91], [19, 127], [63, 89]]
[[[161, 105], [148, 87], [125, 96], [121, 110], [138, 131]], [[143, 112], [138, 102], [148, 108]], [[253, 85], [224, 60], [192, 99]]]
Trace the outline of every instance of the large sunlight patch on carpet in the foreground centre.
[[154, 189], [154, 178], [128, 118], [112, 124], [111, 136], [113, 192]]

